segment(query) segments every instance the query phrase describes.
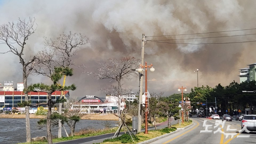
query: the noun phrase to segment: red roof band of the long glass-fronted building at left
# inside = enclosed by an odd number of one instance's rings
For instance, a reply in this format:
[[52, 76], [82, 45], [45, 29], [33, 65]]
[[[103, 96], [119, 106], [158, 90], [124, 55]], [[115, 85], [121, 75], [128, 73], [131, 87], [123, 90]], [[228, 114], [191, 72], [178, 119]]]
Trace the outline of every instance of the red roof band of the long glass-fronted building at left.
[[[69, 91], [64, 91], [64, 94], [68, 94]], [[23, 91], [0, 91], [0, 95], [24, 95]], [[30, 92], [28, 95], [47, 95], [44, 92]], [[61, 91], [54, 91], [52, 95], [61, 95]]]

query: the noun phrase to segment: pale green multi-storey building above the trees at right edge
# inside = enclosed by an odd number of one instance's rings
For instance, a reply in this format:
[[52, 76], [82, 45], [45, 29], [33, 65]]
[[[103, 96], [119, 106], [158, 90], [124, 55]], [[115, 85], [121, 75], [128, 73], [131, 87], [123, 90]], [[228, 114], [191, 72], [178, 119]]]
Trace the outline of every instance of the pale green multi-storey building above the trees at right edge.
[[239, 69], [240, 83], [256, 80], [256, 63], [248, 64], [249, 68]]

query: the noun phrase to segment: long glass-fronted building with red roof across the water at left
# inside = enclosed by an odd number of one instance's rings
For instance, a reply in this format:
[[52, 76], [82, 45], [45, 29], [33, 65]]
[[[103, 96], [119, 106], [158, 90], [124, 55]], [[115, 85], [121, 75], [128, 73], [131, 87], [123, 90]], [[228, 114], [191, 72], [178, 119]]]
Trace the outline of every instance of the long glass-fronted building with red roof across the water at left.
[[[59, 99], [61, 91], [55, 91], [52, 94], [52, 100]], [[69, 99], [69, 91], [64, 91], [64, 98]], [[31, 107], [36, 106], [37, 103], [47, 103], [48, 95], [44, 92], [30, 92], [28, 93], [28, 100], [31, 101]], [[13, 108], [18, 107], [18, 103], [25, 101], [25, 95], [23, 91], [0, 91], [0, 108]], [[47, 105], [40, 105], [47, 107]]]

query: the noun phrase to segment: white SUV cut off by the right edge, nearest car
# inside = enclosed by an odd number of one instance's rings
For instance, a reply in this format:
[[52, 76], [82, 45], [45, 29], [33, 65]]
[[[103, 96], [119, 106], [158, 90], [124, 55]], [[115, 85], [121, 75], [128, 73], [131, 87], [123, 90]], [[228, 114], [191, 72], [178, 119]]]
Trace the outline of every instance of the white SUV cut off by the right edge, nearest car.
[[242, 118], [241, 128], [246, 126], [249, 131], [256, 131], [256, 114], [245, 115]]

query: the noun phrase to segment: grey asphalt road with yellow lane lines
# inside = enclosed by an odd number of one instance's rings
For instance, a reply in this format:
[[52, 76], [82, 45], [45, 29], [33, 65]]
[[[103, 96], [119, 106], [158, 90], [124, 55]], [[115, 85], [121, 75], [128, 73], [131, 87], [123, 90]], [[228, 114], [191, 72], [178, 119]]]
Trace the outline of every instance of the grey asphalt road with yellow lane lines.
[[[221, 129], [225, 133], [234, 133], [236, 136], [231, 138], [231, 136], [226, 136], [221, 133], [213, 134], [213, 131], [216, 131], [218, 127], [215, 129], [215, 121], [213, 119], [206, 118], [191, 118], [194, 123], [192, 126], [185, 130], [181, 130], [173, 135], [167, 136], [160, 140], [157, 140], [151, 144], [252, 144], [256, 143], [256, 133], [250, 132], [250, 134], [240, 134], [238, 131], [241, 130], [240, 121], [231, 121], [226, 122], [224, 129]], [[204, 120], [207, 120], [207, 125], [212, 125], [208, 130], [212, 130], [211, 133], [200, 133], [201, 130], [205, 130], [203, 127]], [[236, 131], [227, 131], [227, 127], [230, 125], [230, 129], [237, 129]], [[246, 136], [250, 135], [250, 138], [237, 138], [237, 136]]]

